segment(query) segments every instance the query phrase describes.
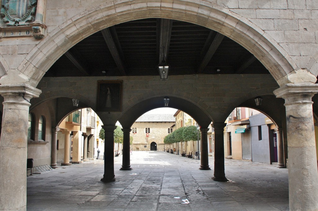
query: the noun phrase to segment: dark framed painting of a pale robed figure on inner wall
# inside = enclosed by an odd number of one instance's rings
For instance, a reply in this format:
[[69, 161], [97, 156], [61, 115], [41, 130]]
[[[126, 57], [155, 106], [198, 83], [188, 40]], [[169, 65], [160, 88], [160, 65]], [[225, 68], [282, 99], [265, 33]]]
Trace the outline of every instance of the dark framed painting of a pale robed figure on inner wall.
[[120, 112], [122, 103], [122, 81], [98, 81], [97, 111]]

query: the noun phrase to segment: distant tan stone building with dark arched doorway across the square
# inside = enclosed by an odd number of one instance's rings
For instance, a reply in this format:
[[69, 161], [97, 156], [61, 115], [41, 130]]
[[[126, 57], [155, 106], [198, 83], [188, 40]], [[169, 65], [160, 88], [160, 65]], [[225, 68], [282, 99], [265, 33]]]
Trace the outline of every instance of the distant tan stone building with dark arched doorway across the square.
[[173, 129], [176, 119], [172, 114], [145, 114], [140, 116], [131, 127], [132, 150], [163, 151], [163, 139]]

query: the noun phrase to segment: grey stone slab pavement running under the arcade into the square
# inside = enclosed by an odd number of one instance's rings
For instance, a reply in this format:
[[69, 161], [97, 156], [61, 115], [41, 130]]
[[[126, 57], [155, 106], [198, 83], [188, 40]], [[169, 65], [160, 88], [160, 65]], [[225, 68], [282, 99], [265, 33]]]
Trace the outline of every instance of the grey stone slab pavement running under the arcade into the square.
[[[103, 160], [59, 167], [27, 178], [27, 210], [183, 210], [287, 211], [287, 169], [249, 161], [225, 160], [229, 182], [211, 180], [200, 161], [157, 151], [134, 151], [131, 171], [103, 183]], [[211, 169], [213, 158], [209, 157]], [[189, 203], [187, 203], [189, 201]]]

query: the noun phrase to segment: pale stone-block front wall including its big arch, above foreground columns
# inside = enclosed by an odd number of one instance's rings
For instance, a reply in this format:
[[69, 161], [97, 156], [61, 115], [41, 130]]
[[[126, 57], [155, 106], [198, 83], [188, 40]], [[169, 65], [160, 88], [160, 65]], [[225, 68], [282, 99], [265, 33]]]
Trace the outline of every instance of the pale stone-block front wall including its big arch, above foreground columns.
[[[36, 86], [45, 71], [75, 43], [108, 26], [147, 17], [172, 18], [220, 31], [252, 52], [280, 85], [312, 82], [310, 78], [315, 77], [306, 70], [318, 74], [315, 0], [154, 0], [151, 4], [50, 0], [46, 4], [43, 39], [1, 38], [0, 74], [7, 75], [0, 78], [0, 83], [27, 82]], [[305, 71], [294, 71], [299, 69]]]

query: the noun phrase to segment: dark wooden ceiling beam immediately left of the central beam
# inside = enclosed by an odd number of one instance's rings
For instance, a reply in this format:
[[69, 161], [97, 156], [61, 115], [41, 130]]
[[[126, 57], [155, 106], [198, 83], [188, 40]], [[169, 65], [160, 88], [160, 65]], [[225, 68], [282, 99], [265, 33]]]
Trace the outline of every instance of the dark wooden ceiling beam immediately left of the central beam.
[[126, 76], [127, 70], [124, 65], [123, 54], [119, 44], [119, 40], [114, 27], [109, 27], [101, 30], [107, 47], [114, 58], [114, 61], [121, 72], [121, 75]]

